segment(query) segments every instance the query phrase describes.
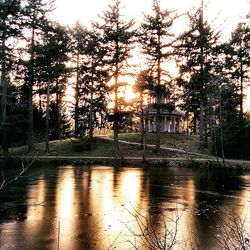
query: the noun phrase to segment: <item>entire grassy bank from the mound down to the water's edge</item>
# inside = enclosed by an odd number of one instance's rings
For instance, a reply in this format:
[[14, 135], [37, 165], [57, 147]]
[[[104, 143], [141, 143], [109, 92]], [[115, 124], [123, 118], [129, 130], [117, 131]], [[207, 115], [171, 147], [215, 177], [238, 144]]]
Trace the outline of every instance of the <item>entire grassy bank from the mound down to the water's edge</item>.
[[[115, 147], [112, 139], [107, 140], [102, 137], [95, 137], [91, 145], [81, 144], [76, 139], [65, 139], [50, 142], [50, 152], [45, 152], [44, 143], [36, 144], [36, 151], [28, 153], [27, 147], [11, 148], [10, 158], [36, 159], [40, 161], [65, 161], [72, 162], [95, 162], [113, 164], [116, 160], [123, 158], [130, 164], [142, 162], [142, 149], [140, 147], [140, 134], [120, 134], [120, 140], [137, 142], [138, 145], [119, 143], [119, 150]], [[215, 157], [202, 155], [199, 152], [199, 138], [197, 136], [182, 134], [161, 134], [161, 145], [169, 148], [178, 148], [184, 151], [176, 152], [172, 150], [161, 150], [159, 154], [155, 153], [154, 147], [147, 147], [146, 157], [148, 163], [164, 164], [166, 166], [218, 166]], [[148, 144], [154, 144], [155, 134], [149, 134]], [[199, 153], [199, 154], [197, 154]], [[7, 157], [8, 158], [8, 157]], [[120, 160], [119, 160], [120, 162]], [[220, 159], [222, 163], [222, 160]], [[250, 161], [226, 160], [227, 167], [249, 169]], [[221, 164], [219, 164], [221, 166]]]

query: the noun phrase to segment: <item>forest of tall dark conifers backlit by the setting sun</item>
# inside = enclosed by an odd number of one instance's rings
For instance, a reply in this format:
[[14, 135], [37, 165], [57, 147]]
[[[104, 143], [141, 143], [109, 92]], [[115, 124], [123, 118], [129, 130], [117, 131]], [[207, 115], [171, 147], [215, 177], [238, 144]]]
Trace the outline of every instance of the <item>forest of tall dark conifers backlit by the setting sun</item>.
[[[67, 27], [53, 21], [54, 1], [0, 1], [1, 154], [18, 145], [34, 151], [38, 142], [48, 152], [49, 141], [69, 137], [91, 143], [95, 131], [107, 127], [117, 145], [121, 131], [141, 132], [143, 140], [144, 107], [152, 96], [156, 152], [161, 110], [178, 108], [185, 112], [185, 132], [198, 134], [201, 148], [249, 158], [244, 100], [250, 14], [222, 41], [203, 5], [183, 14], [189, 26], [181, 34], [174, 26], [183, 15], [162, 9], [157, 0], [141, 23], [127, 20], [122, 6], [115, 0], [91, 27], [80, 21]], [[128, 101], [129, 77], [137, 97]], [[167, 103], [161, 103], [162, 93]]]

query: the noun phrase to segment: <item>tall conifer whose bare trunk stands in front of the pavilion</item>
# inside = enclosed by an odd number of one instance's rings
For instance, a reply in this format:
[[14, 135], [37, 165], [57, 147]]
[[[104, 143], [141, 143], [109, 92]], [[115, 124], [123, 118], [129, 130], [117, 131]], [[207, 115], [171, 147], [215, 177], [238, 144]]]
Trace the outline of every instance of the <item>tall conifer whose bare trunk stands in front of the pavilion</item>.
[[156, 153], [159, 153], [161, 89], [164, 89], [164, 86], [170, 89], [172, 80], [169, 72], [163, 69], [163, 63], [169, 61], [173, 53], [174, 35], [171, 27], [177, 16], [171, 11], [161, 10], [157, 0], [153, 1], [152, 12], [152, 15], [144, 16], [139, 41], [142, 52], [146, 55], [150, 74], [154, 79], [151, 89], [156, 97]]

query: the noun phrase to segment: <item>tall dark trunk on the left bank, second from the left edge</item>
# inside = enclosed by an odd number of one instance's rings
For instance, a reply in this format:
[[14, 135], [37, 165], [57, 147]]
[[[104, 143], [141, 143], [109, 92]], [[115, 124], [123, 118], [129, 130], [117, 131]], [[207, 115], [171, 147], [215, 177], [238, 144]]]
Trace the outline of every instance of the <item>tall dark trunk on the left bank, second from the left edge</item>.
[[28, 131], [27, 142], [28, 150], [35, 150], [34, 145], [34, 127], [33, 127], [33, 85], [34, 85], [34, 46], [35, 46], [35, 29], [32, 29], [31, 37], [31, 56], [29, 68], [29, 84], [28, 84]]

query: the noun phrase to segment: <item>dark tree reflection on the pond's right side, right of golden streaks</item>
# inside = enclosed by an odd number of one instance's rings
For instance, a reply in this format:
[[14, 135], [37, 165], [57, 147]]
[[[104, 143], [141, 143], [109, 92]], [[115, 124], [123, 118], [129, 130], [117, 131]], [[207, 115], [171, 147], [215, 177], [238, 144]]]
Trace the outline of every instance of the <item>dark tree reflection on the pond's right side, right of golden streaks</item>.
[[217, 228], [226, 223], [220, 210], [238, 205], [238, 199], [231, 195], [240, 196], [242, 180], [232, 170], [201, 169], [195, 172], [196, 206], [192, 216], [196, 237], [201, 246], [212, 248], [218, 244], [215, 238]]

